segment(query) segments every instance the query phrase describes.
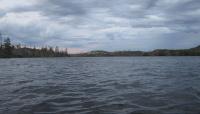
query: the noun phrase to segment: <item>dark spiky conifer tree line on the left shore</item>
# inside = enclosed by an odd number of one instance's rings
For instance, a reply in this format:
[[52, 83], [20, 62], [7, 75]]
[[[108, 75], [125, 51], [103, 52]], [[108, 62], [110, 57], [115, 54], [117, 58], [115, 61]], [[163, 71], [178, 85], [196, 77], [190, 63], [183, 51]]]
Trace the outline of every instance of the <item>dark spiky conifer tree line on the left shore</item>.
[[11, 44], [10, 38], [6, 38], [0, 44], [0, 58], [11, 58], [11, 57], [68, 57], [67, 48], [63, 51], [58, 46], [53, 47], [26, 47], [21, 44]]

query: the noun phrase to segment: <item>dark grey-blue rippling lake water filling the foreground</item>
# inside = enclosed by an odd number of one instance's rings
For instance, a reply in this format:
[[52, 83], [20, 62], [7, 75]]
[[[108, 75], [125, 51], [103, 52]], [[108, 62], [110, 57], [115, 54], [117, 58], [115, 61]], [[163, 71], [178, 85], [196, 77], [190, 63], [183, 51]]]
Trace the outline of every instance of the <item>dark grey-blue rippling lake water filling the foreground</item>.
[[200, 57], [0, 59], [0, 114], [200, 114]]

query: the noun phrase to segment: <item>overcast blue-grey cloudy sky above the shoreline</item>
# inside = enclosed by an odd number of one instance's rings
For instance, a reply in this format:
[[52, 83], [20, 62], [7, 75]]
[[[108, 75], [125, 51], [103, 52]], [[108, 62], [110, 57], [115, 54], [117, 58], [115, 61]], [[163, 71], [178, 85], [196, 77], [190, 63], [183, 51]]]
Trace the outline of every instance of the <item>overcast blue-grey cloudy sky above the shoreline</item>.
[[190, 48], [200, 45], [200, 0], [0, 0], [0, 32], [71, 53]]

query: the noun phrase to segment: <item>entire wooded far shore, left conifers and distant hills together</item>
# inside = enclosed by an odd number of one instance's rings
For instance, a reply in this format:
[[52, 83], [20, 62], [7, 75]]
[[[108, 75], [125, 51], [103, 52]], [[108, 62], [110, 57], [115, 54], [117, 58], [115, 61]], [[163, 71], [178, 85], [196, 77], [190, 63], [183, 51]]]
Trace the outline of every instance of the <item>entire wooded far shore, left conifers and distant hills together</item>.
[[[4, 39], [4, 40], [3, 40]], [[200, 56], [200, 46], [190, 49], [157, 49], [154, 51], [90, 51], [79, 54], [69, 54], [67, 48], [58, 46], [25, 46], [12, 44], [9, 37], [2, 38], [0, 33], [0, 58], [29, 58], [29, 57], [112, 57], [112, 56]]]

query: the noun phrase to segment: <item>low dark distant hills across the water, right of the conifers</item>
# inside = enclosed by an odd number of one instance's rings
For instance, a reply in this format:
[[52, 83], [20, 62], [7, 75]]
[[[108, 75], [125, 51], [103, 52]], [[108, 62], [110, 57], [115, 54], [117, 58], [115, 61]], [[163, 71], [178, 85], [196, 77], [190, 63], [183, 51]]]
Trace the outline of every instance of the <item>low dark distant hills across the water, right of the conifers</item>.
[[71, 56], [79, 57], [110, 57], [110, 56], [200, 56], [200, 45], [191, 49], [156, 49], [150, 52], [144, 51], [115, 51], [108, 52], [103, 50], [91, 51], [81, 54], [73, 54]]

